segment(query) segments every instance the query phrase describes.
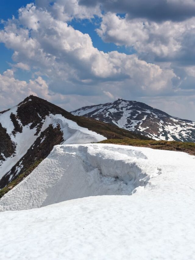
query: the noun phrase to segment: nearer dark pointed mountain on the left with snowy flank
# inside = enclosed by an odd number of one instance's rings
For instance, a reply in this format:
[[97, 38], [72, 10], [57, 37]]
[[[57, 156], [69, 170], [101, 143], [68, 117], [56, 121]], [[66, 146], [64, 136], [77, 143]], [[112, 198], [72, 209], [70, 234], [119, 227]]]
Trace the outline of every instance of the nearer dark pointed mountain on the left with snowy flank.
[[29, 96], [0, 112], [0, 189], [46, 158], [56, 144], [85, 144], [107, 138], [144, 137], [94, 119], [73, 116]]

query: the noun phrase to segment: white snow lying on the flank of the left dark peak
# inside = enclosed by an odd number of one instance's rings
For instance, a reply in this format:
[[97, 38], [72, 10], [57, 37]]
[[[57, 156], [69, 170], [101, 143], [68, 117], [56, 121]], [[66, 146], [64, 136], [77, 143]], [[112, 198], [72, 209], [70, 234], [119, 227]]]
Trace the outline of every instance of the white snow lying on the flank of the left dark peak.
[[[17, 132], [13, 134], [14, 125], [10, 119], [11, 113], [17, 115], [18, 106], [13, 107], [9, 111], [0, 114], [0, 123], [2, 127], [6, 128], [12, 143], [15, 144], [15, 152], [10, 157], [5, 158], [5, 161], [0, 160], [0, 179], [8, 173], [12, 167], [27, 153], [27, 150], [36, 141], [36, 139], [41, 135], [50, 124], [55, 128], [60, 125], [61, 131], [63, 131], [64, 144], [86, 144], [90, 142], [98, 142], [107, 139], [106, 137], [97, 134], [96, 132], [90, 131], [87, 128], [78, 126], [76, 122], [66, 119], [62, 115], [49, 114], [45, 119], [42, 119], [41, 131], [36, 134], [37, 128], [31, 128], [31, 123], [23, 126], [22, 133]], [[17, 117], [16, 117], [17, 118]], [[21, 122], [16, 119], [19, 125]], [[43, 140], [42, 140], [43, 141]], [[11, 178], [12, 176], [10, 176]]]

